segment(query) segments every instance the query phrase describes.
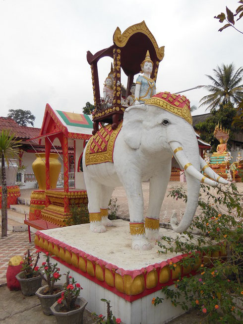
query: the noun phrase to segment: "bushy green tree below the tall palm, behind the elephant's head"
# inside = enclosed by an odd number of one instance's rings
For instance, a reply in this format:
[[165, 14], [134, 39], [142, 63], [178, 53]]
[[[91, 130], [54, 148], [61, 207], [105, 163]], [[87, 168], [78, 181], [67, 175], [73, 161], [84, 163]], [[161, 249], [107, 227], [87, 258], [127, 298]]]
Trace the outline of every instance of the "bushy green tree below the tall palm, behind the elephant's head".
[[232, 126], [232, 121], [236, 115], [237, 110], [231, 103], [221, 104], [218, 110], [211, 111], [211, 115], [204, 122], [195, 125], [195, 129], [200, 131], [201, 139], [211, 144], [213, 152], [216, 152], [217, 145], [219, 144], [218, 140], [214, 137], [215, 126], [219, 123], [219, 125], [222, 125], [222, 128], [230, 130], [229, 146], [230, 140], [234, 139], [234, 132], [239, 131], [237, 125]]

